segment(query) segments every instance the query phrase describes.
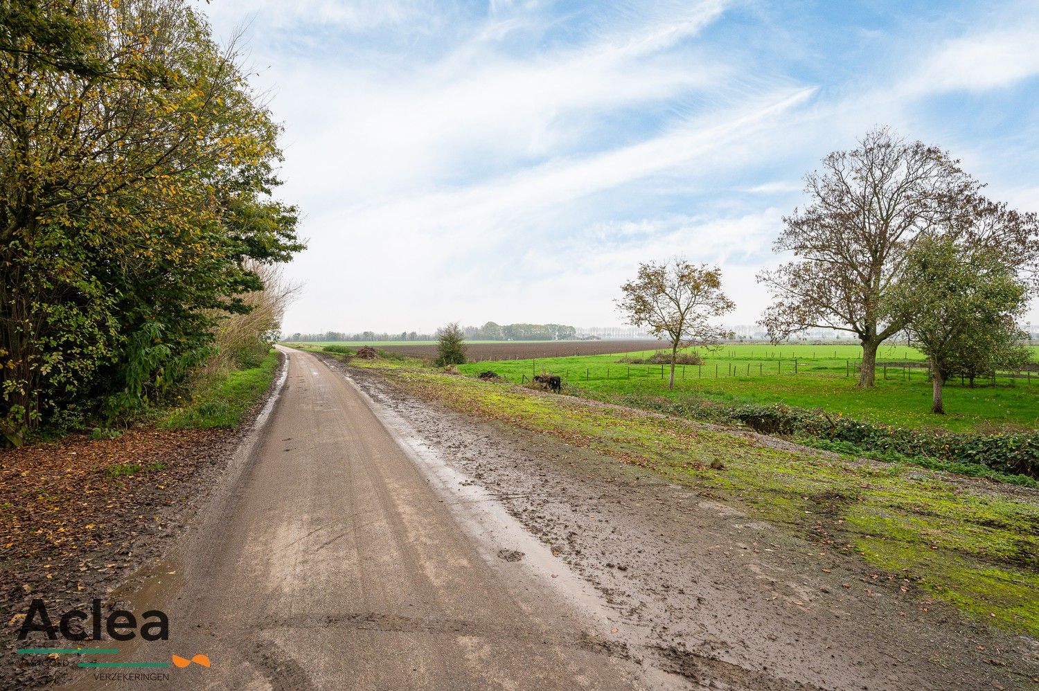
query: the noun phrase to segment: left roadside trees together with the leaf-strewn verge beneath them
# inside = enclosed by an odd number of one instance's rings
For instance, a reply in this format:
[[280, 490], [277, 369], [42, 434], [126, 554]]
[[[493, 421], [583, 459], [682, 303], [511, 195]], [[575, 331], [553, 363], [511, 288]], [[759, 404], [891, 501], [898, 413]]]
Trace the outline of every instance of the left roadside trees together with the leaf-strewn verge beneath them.
[[[272, 196], [279, 128], [186, 0], [3, 3], [0, 76], [15, 613], [103, 596], [166, 544], [270, 386], [296, 292], [276, 267], [302, 243]], [[4, 680], [61, 673], [7, 639]]]

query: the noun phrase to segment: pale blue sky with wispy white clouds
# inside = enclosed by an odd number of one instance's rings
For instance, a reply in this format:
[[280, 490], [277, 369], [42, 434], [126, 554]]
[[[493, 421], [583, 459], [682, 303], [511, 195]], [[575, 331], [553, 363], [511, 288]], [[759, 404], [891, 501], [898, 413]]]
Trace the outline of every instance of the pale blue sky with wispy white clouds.
[[198, 6], [284, 126], [308, 242], [284, 333], [620, 324], [619, 286], [671, 257], [720, 266], [752, 324], [804, 175], [878, 125], [1039, 211], [1035, 1]]

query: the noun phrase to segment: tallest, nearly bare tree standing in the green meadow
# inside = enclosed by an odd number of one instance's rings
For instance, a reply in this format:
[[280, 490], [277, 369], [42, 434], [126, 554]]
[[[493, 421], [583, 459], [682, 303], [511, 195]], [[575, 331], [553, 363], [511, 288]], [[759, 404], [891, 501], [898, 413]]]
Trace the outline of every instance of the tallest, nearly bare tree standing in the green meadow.
[[829, 154], [805, 181], [810, 204], [783, 218], [775, 242], [796, 260], [757, 277], [773, 296], [760, 323], [773, 341], [811, 327], [851, 331], [862, 344], [858, 384], [872, 387], [878, 346], [905, 326], [887, 298], [906, 253], [923, 233], [962, 227], [962, 201], [981, 185], [945, 152], [886, 129]]

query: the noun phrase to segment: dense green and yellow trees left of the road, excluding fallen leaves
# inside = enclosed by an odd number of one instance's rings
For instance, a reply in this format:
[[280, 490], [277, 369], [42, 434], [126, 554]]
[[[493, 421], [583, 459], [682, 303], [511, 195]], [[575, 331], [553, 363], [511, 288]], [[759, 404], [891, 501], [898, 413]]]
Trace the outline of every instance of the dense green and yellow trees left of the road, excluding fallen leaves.
[[234, 43], [186, 0], [6, 3], [0, 37], [0, 442], [266, 353], [292, 293], [272, 267], [303, 245]]

